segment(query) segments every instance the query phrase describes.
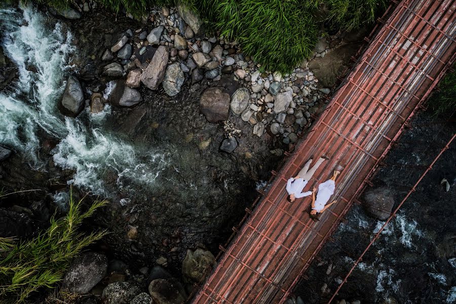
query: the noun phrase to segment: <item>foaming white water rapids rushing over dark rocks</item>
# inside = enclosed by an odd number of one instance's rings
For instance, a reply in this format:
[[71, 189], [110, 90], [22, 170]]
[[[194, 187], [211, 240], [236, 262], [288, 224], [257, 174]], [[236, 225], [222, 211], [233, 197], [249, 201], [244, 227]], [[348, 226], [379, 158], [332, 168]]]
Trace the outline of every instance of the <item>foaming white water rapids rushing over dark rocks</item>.
[[[40, 170], [39, 132], [59, 140], [52, 150], [56, 165], [73, 170], [68, 183], [94, 194], [110, 196], [103, 175], [117, 175], [120, 188], [132, 183], [151, 185], [167, 168], [167, 156], [154, 149], [140, 152], [103, 128], [110, 115], [107, 106], [96, 115], [84, 111], [76, 119], [63, 117], [58, 102], [75, 48], [72, 35], [60, 23], [31, 7], [0, 10], [5, 55], [18, 67], [19, 78], [8, 92], [0, 93], [0, 144], [13, 149]], [[55, 198], [64, 197], [56, 194]]]

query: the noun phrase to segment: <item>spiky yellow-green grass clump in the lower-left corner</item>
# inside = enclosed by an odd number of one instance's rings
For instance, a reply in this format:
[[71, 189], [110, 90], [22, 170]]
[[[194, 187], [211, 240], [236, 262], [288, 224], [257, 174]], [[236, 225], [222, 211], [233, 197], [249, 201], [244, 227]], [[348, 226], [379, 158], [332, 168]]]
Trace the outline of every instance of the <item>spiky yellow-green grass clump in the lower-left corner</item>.
[[23, 303], [34, 291], [53, 288], [63, 279], [71, 260], [106, 232], [85, 235], [78, 231], [106, 201], [95, 201], [81, 211], [82, 200], [75, 202], [72, 194], [66, 216], [51, 218], [49, 228], [31, 240], [16, 241], [0, 238], [0, 302]]

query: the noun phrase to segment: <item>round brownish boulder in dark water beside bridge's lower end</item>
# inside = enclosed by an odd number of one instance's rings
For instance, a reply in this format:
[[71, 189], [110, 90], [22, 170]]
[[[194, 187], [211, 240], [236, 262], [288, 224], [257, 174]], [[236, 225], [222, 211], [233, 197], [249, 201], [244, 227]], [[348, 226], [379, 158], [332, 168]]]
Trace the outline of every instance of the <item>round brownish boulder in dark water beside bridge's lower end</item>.
[[215, 262], [214, 255], [208, 250], [188, 249], [182, 261], [182, 274], [189, 282], [200, 283], [209, 274]]

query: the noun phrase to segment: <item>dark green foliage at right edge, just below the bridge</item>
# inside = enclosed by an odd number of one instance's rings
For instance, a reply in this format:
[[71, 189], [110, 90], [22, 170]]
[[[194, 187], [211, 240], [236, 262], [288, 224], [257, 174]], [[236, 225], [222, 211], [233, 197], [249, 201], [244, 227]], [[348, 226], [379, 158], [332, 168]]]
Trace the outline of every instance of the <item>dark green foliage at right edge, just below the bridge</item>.
[[436, 115], [454, 115], [456, 112], [456, 72], [448, 73], [439, 83], [438, 91], [428, 101]]

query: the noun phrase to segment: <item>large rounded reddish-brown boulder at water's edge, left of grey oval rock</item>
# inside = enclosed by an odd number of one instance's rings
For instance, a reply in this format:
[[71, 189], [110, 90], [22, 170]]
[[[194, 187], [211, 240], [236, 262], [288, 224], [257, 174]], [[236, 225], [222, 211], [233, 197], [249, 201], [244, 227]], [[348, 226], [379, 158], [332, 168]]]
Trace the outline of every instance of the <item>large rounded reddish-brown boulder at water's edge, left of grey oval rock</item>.
[[230, 116], [230, 95], [221, 87], [206, 89], [200, 97], [200, 112], [210, 123], [227, 120]]

